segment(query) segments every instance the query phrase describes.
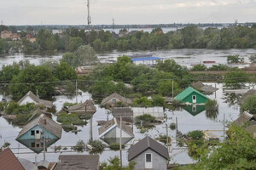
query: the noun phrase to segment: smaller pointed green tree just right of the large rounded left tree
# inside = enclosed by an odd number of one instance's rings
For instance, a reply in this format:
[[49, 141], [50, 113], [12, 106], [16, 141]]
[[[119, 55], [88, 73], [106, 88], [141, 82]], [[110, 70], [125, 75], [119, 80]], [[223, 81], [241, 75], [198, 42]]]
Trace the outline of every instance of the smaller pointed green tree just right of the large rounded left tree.
[[56, 67], [56, 76], [59, 80], [75, 80], [78, 78], [76, 71], [67, 62], [61, 61]]

